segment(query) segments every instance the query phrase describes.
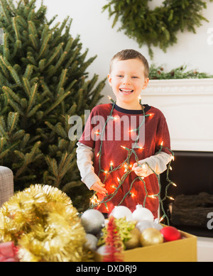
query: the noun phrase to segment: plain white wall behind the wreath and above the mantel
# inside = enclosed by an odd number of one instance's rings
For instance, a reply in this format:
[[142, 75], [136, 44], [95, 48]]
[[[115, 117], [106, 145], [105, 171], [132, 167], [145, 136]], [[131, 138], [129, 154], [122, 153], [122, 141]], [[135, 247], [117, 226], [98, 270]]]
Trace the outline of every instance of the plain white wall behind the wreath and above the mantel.
[[[209, 22], [202, 21], [202, 26], [196, 29], [196, 34], [180, 32], [178, 43], [168, 48], [167, 53], [154, 48], [154, 59], [151, 60], [146, 45], [138, 48], [136, 41], [128, 38], [124, 32], [117, 32], [118, 23], [111, 28], [113, 18], [109, 20], [108, 11], [102, 13], [102, 7], [109, 3], [108, 0], [43, 0], [48, 7], [48, 18], [58, 14], [55, 23], [62, 22], [67, 16], [72, 18], [70, 29], [72, 37], [80, 35], [83, 49], [89, 48], [87, 58], [98, 55], [88, 68], [89, 77], [96, 73], [99, 74], [100, 80], [107, 77], [111, 57], [125, 48], [140, 51], [150, 64], [163, 65], [167, 71], [180, 65], [187, 65], [189, 70], [197, 69], [200, 72], [213, 74], [213, 2], [209, 0], [206, 2], [207, 9], [203, 10], [203, 16]], [[153, 0], [152, 5], [155, 6], [157, 3], [162, 3], [162, 0]], [[211, 34], [207, 33], [209, 28], [212, 28], [212, 38]], [[108, 84], [102, 93], [112, 96]], [[102, 103], [105, 102], [108, 102], [107, 96], [102, 99]]]

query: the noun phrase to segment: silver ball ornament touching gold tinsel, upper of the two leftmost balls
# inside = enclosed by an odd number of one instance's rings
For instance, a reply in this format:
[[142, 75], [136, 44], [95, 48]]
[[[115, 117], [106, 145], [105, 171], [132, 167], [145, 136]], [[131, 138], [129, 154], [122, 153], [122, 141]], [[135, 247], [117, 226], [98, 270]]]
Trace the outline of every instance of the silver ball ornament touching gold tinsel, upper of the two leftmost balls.
[[81, 223], [86, 233], [97, 234], [104, 225], [104, 215], [95, 209], [84, 211], [81, 216]]

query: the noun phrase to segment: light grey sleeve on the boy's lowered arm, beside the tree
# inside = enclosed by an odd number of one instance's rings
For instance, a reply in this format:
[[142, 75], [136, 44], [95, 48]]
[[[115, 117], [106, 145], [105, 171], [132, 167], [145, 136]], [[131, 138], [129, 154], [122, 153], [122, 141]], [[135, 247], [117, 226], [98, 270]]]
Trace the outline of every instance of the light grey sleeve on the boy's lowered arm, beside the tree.
[[97, 181], [101, 181], [94, 172], [93, 167], [93, 150], [87, 145], [80, 142], [77, 143], [77, 167], [80, 170], [82, 182], [86, 184], [87, 188], [90, 189], [92, 184]]

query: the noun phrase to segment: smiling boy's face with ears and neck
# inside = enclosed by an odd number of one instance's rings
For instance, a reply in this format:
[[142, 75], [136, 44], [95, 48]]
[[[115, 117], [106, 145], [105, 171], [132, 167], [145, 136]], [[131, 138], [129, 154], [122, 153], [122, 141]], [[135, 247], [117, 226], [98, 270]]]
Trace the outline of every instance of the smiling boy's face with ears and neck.
[[116, 96], [116, 104], [126, 109], [138, 109], [138, 96], [148, 85], [144, 76], [144, 65], [138, 58], [132, 60], [114, 60], [109, 85]]

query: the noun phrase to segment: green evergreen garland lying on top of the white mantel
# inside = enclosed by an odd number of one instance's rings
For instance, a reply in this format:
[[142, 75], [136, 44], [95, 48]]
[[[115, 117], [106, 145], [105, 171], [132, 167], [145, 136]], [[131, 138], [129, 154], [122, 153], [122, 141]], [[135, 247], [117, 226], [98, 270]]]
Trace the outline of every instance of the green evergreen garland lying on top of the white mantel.
[[207, 79], [213, 78], [213, 74], [198, 72], [197, 70], [186, 70], [187, 66], [182, 65], [169, 72], [165, 72], [163, 66], [152, 64], [149, 70], [149, 79]]

